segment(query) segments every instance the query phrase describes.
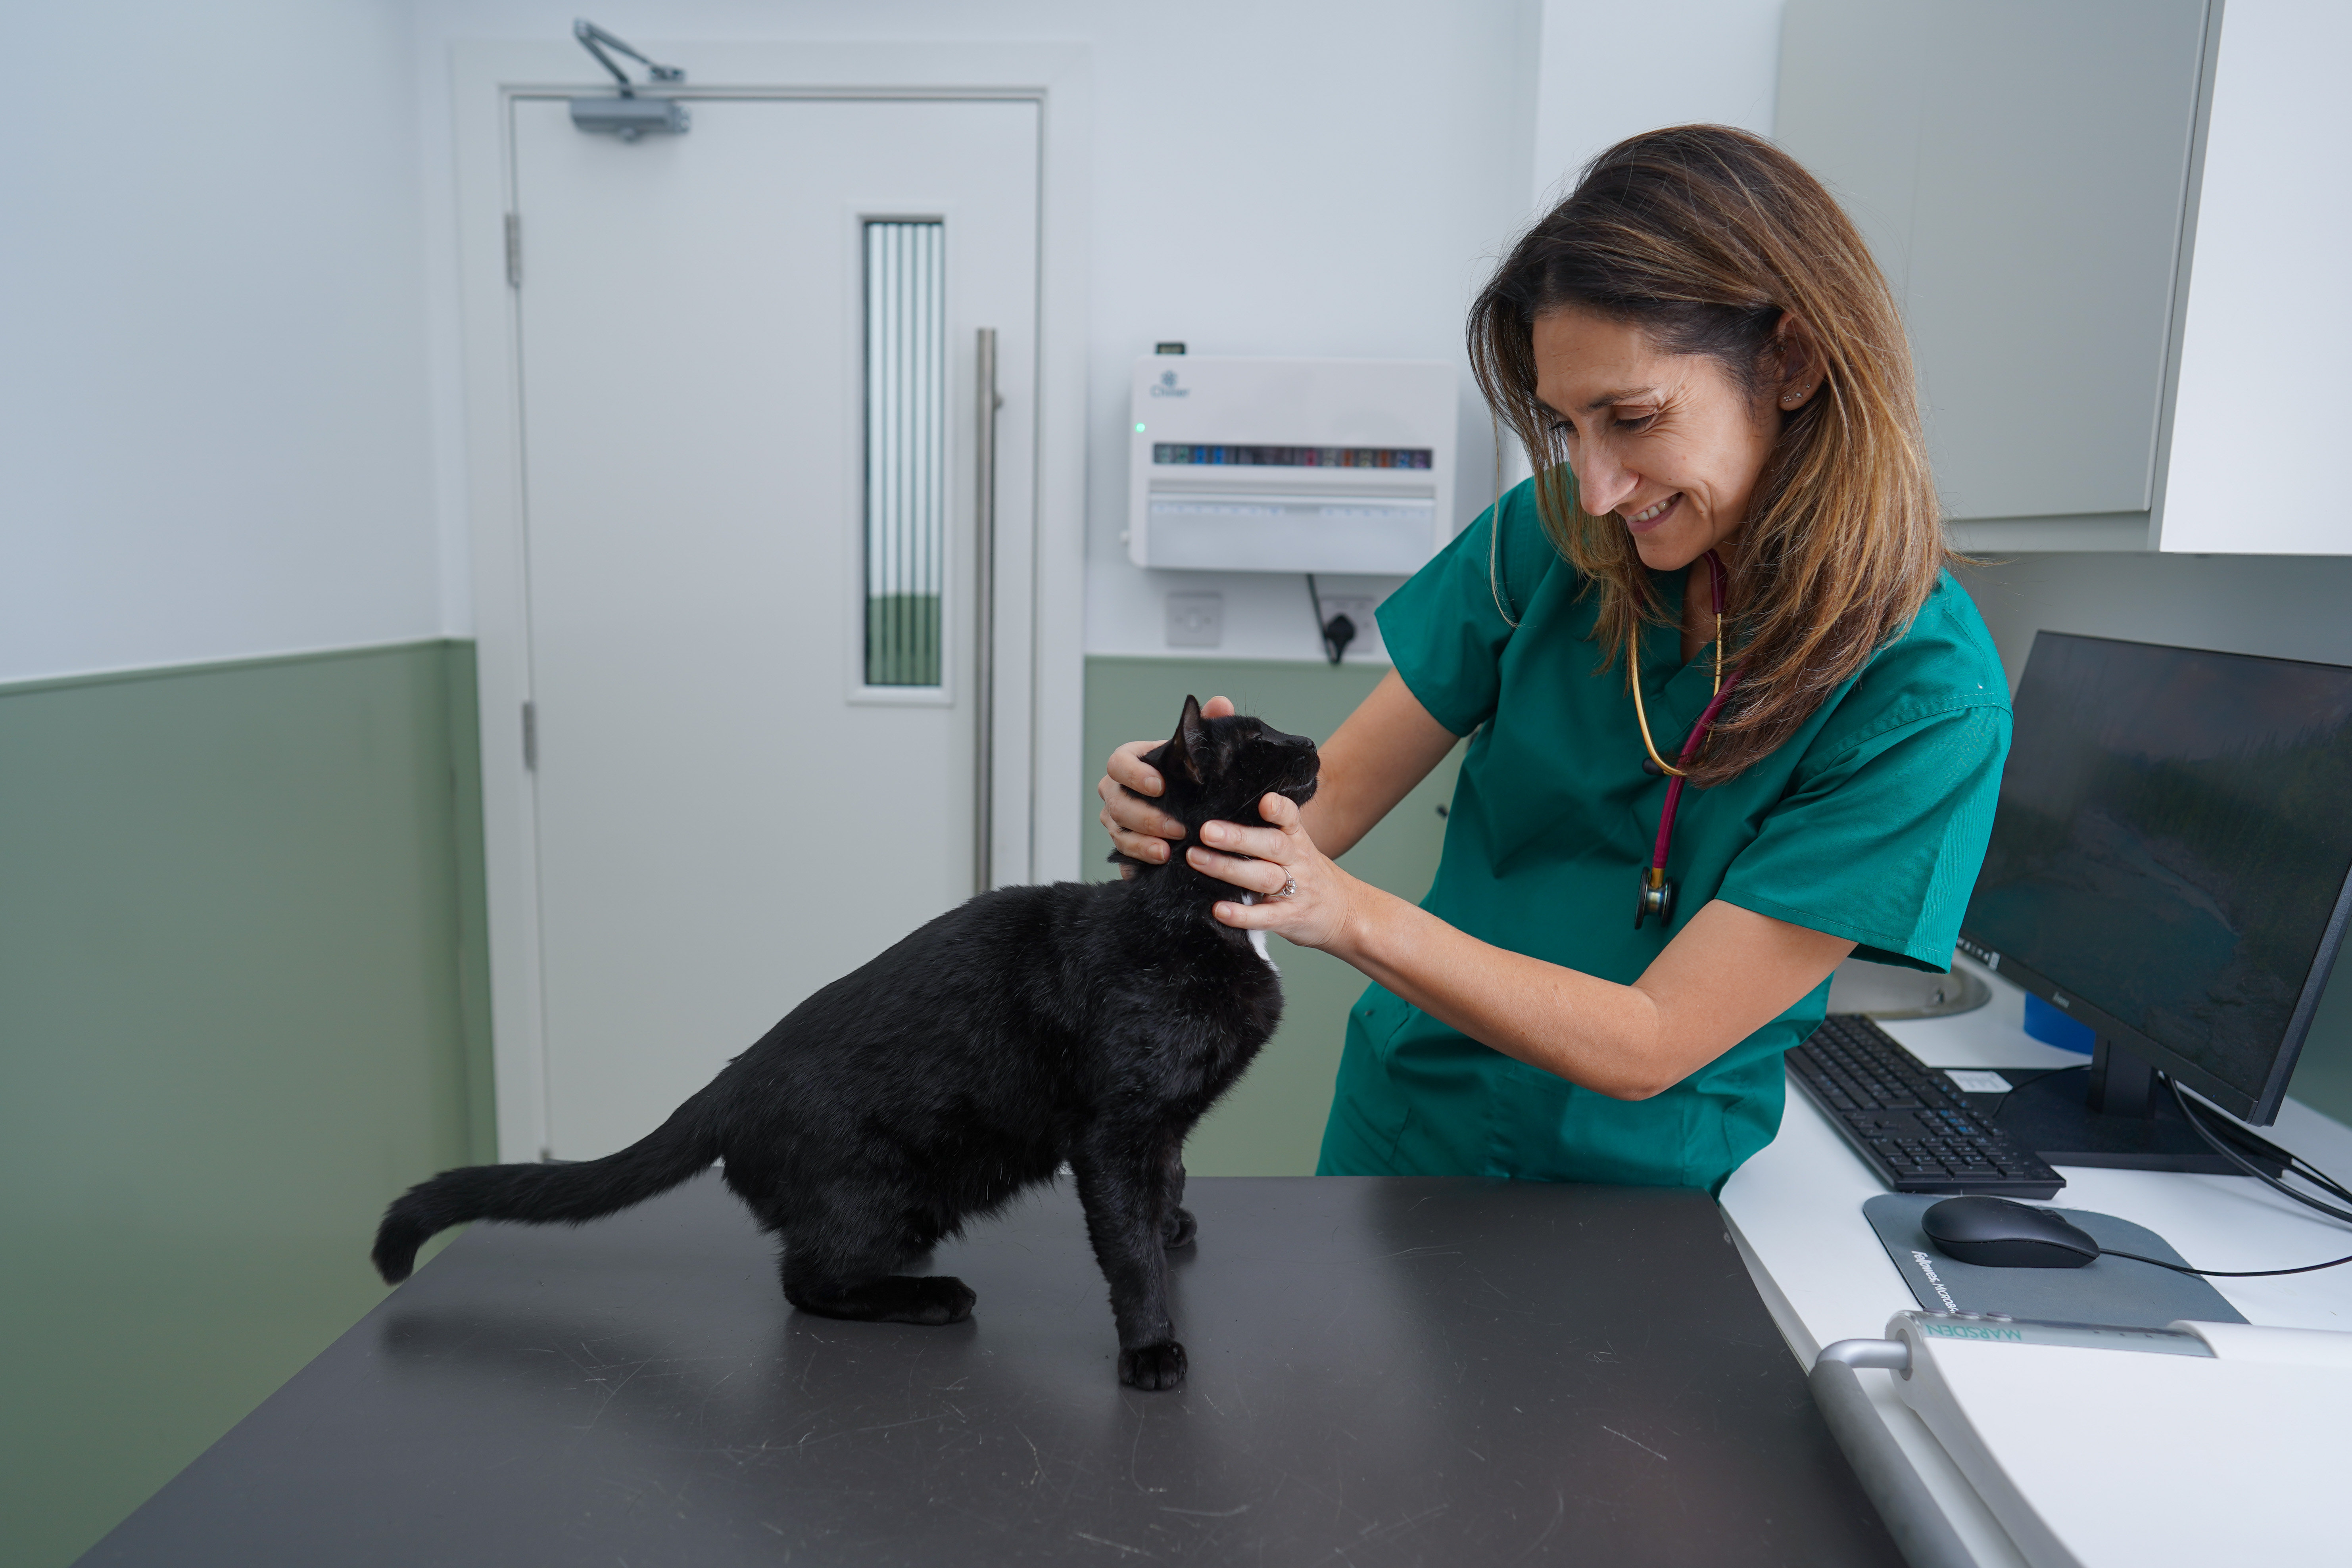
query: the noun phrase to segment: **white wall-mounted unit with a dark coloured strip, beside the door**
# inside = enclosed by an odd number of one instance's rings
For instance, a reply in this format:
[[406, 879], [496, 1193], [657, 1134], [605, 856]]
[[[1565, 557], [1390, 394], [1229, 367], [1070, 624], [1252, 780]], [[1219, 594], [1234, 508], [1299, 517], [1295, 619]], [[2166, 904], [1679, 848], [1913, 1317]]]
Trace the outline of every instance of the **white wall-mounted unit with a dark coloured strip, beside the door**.
[[1454, 538], [1454, 421], [1435, 360], [1136, 360], [1127, 552], [1409, 576]]

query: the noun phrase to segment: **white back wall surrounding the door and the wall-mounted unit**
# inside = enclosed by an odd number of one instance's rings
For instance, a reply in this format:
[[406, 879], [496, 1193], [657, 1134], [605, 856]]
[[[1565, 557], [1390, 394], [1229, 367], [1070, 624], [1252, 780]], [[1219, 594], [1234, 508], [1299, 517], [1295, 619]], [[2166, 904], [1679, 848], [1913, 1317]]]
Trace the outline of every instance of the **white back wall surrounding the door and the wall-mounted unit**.
[[[1461, 322], [1491, 256], [1526, 216], [1541, 0], [1202, 0], [1178, 12], [1101, 0], [640, 0], [597, 21], [661, 42], [691, 73], [694, 40], [1056, 40], [1094, 73], [1087, 416], [1087, 649], [1162, 654], [1169, 588], [1225, 595], [1223, 656], [1315, 658], [1298, 578], [1145, 574], [1120, 545], [1127, 381], [1138, 353], [1383, 355], [1463, 362]], [[435, 341], [454, 343], [445, 256], [447, 61], [456, 40], [567, 38], [572, 0], [419, 0]], [[583, 80], [593, 63], [581, 56]], [[440, 442], [456, 447], [454, 369]], [[1463, 374], [1465, 451], [1486, 418]], [[1494, 496], [1463, 463], [1458, 505]], [[445, 557], [463, 517], [442, 505]], [[1338, 581], [1385, 592], [1392, 581]], [[461, 583], [452, 583], [456, 602]], [[463, 611], [461, 611], [463, 614]]]

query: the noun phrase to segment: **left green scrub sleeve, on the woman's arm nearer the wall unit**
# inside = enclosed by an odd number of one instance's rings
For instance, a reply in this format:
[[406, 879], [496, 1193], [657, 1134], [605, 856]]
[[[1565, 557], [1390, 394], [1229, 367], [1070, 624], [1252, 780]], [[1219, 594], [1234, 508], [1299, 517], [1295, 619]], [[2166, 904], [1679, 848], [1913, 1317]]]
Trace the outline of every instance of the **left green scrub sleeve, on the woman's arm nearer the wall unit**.
[[1503, 649], [1555, 567], [1569, 569], [1522, 484], [1381, 602], [1381, 642], [1397, 677], [1456, 736], [1494, 717]]

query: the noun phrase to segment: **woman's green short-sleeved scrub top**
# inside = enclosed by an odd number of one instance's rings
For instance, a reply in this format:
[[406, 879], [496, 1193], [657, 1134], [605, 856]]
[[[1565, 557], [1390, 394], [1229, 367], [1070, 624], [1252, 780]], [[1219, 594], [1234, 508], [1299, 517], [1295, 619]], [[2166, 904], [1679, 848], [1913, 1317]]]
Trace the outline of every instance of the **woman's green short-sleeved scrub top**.
[[[1421, 907], [1536, 959], [1632, 983], [1712, 898], [1943, 971], [1985, 858], [2009, 752], [2009, 682], [1976, 604], [1940, 576], [1912, 625], [1771, 757], [1684, 790], [1675, 919], [1632, 924], [1665, 780], [1642, 771], [1623, 663], [1599, 668], [1599, 592], [1519, 484], [1381, 607], [1397, 675], [1470, 736]], [[1682, 574], [1658, 583], [1679, 616]], [[1505, 616], [1505, 607], [1510, 614]], [[1517, 621], [1517, 625], [1512, 625]], [[1668, 757], [1712, 693], [1712, 649], [1642, 637]], [[1324, 1175], [1510, 1175], [1722, 1190], [1780, 1128], [1780, 1053], [1828, 980], [1649, 1100], [1613, 1100], [1491, 1051], [1374, 985], [1348, 1013]]]

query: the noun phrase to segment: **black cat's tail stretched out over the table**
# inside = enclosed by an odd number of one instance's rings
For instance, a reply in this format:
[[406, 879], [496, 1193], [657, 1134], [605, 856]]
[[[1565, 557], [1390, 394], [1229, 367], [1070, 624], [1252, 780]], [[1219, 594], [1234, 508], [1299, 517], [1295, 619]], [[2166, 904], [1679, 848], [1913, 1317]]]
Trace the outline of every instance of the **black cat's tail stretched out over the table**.
[[383, 1211], [376, 1272], [397, 1286], [416, 1267], [416, 1248], [466, 1220], [579, 1225], [668, 1192], [720, 1157], [717, 1117], [694, 1095], [649, 1135], [604, 1159], [541, 1166], [463, 1166], [416, 1182]]

